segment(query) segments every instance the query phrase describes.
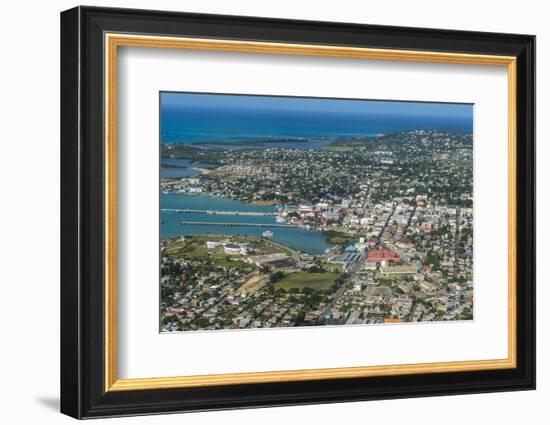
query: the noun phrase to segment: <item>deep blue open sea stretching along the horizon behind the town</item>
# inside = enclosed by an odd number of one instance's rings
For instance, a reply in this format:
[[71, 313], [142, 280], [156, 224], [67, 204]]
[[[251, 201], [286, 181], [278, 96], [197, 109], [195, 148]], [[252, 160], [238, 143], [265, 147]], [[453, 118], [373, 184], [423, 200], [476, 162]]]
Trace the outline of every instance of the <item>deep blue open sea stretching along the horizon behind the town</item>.
[[[163, 143], [252, 141], [270, 137], [330, 138], [416, 129], [471, 132], [471, 115], [395, 115], [334, 113], [166, 105], [162, 108]], [[317, 140], [319, 142], [319, 140]], [[304, 147], [295, 143], [297, 148]], [[311, 147], [311, 146], [310, 146]]]

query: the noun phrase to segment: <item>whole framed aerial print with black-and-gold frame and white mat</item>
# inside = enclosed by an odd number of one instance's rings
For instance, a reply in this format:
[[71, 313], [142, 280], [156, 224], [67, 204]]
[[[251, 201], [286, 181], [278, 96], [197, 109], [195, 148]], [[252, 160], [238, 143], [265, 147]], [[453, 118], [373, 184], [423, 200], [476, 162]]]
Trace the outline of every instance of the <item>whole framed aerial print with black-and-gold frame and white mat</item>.
[[61, 411], [535, 387], [535, 38], [61, 14]]

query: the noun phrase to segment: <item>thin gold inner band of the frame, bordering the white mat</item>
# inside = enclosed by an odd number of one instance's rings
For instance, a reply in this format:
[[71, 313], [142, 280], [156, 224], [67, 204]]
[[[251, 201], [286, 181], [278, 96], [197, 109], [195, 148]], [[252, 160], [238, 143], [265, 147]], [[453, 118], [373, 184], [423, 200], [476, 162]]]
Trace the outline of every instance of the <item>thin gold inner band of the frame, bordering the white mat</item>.
[[[308, 381], [357, 377], [467, 372], [516, 367], [516, 58], [513, 56], [390, 50], [308, 44], [266, 43], [184, 37], [105, 34], [105, 391], [135, 391], [218, 385]], [[116, 99], [119, 47], [188, 49], [279, 55], [325, 56], [358, 60], [450, 63], [506, 67], [508, 72], [508, 357], [494, 360], [400, 364], [255, 373], [118, 379], [116, 374]]]

